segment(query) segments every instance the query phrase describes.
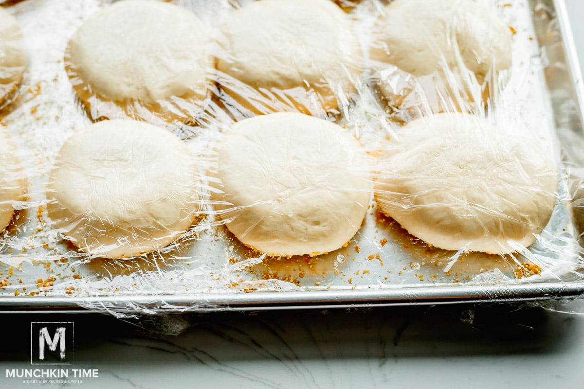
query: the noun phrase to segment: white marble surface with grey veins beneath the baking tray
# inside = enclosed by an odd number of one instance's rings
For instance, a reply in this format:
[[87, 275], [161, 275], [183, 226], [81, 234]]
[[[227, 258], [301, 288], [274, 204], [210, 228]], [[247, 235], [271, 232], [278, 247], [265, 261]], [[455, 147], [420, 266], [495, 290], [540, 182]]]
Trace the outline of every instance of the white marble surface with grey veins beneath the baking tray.
[[[584, 64], [584, 1], [566, 4]], [[99, 377], [43, 387], [584, 387], [583, 316], [459, 306], [225, 313], [147, 323], [190, 326], [176, 337], [108, 316], [3, 315], [0, 388], [38, 385], [7, 379], [5, 370], [31, 367], [31, 321], [64, 320], [75, 322], [74, 367], [99, 369]]]

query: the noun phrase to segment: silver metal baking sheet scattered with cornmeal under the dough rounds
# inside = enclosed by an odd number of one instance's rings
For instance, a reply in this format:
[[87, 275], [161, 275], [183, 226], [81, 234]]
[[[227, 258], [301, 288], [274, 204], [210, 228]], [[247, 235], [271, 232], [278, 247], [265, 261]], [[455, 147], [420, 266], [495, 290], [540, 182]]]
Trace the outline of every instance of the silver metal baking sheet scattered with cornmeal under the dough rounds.
[[[559, 201], [541, 241], [515, 257], [458, 255], [427, 247], [378, 214], [373, 200], [349, 246], [315, 258], [258, 257], [232, 237], [213, 212], [178, 244], [159, 253], [117, 261], [78, 253], [51, 229], [44, 187], [64, 139], [90, 123], [63, 68], [65, 45], [83, 20], [109, 3], [27, 0], [7, 8], [25, 34], [29, 65], [13, 103], [2, 108], [2, 123], [18, 143], [32, 178], [29, 201], [20, 204], [16, 222], [0, 241], [0, 279], [6, 280], [0, 289], [0, 309], [78, 307], [117, 313], [268, 309], [530, 300], [577, 296], [584, 290], [569, 174], [562, 175]], [[210, 29], [234, 5], [176, 3], [194, 10]], [[516, 31], [509, 85], [489, 118], [528, 131], [562, 171], [584, 166], [576, 151], [584, 143], [581, 106], [570, 74], [578, 72], [565, 55], [562, 29], [567, 19], [557, 14], [563, 3], [556, 2], [557, 8], [551, 1], [482, 3], [497, 6]], [[364, 0], [353, 10], [361, 33], [371, 22], [363, 15], [374, 15], [379, 5]], [[356, 106], [334, 120], [374, 145], [399, 124], [387, 120], [367, 81], [364, 75]], [[206, 125], [171, 131], [194, 153], [204, 154], [217, 131], [232, 120], [213, 106], [209, 120], [201, 121]], [[551, 252], [549, 247], [558, 250]], [[541, 272], [526, 274], [522, 268], [526, 262], [537, 264]]]

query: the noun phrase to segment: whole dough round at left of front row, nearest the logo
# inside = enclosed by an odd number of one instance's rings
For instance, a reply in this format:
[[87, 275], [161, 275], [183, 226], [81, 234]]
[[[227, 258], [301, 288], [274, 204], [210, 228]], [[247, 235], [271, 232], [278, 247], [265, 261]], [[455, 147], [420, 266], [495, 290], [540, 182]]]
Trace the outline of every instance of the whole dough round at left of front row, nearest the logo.
[[199, 209], [186, 146], [165, 129], [130, 120], [101, 121], [67, 139], [47, 197], [55, 228], [82, 251], [110, 258], [167, 246]]

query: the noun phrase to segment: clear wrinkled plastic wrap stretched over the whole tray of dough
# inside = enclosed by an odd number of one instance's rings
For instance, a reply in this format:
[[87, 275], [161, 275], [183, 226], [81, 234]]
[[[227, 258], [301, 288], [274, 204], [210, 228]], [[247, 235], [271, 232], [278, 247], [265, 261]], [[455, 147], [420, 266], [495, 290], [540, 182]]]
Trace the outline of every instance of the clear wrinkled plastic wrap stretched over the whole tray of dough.
[[[584, 134], [558, 122], [545, 2], [391, 16], [404, 0], [178, 0], [160, 17], [154, 3], [6, 8], [30, 60], [2, 113], [3, 307], [128, 316], [584, 290], [570, 152]], [[392, 57], [414, 40], [421, 59]]]

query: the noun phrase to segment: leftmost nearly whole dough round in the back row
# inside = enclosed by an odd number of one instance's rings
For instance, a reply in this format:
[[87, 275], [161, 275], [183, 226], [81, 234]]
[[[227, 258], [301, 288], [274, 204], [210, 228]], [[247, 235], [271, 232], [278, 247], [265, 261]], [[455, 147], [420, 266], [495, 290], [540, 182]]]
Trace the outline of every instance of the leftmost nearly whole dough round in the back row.
[[158, 1], [123, 0], [79, 27], [65, 68], [93, 120], [187, 120], [208, 96], [213, 61], [201, 20]]

